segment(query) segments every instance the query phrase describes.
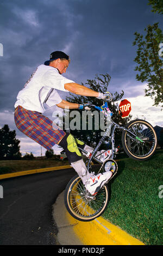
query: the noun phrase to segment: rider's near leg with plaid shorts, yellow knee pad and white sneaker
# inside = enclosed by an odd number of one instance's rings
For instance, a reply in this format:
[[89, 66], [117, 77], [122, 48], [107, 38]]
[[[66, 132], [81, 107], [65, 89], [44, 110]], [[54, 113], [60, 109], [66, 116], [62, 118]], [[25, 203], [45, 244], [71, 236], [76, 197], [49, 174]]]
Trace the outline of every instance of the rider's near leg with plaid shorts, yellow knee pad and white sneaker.
[[71, 134], [65, 134], [58, 127], [55, 130], [53, 122], [48, 117], [41, 115], [37, 111], [26, 110], [21, 106], [15, 109], [14, 117], [17, 128], [47, 150], [53, 148], [54, 144], [59, 143], [58, 145], [65, 149], [72, 167], [76, 170], [80, 178], [82, 178], [86, 189], [91, 194], [95, 191], [97, 193], [103, 182], [106, 182], [109, 178], [110, 175], [108, 175], [108, 172], [105, 172], [104, 175], [98, 174], [97, 177], [95, 176], [92, 179], [73, 136]]

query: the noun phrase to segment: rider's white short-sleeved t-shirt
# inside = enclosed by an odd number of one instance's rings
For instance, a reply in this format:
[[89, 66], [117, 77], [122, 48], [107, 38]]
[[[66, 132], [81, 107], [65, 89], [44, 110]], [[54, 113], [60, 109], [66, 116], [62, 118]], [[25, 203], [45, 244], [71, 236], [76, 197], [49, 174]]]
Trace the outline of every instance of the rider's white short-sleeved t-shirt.
[[43, 113], [43, 103], [51, 107], [62, 101], [55, 89], [68, 92], [64, 85], [71, 82], [74, 81], [60, 75], [57, 68], [41, 64], [18, 93], [15, 108], [20, 105], [24, 109]]

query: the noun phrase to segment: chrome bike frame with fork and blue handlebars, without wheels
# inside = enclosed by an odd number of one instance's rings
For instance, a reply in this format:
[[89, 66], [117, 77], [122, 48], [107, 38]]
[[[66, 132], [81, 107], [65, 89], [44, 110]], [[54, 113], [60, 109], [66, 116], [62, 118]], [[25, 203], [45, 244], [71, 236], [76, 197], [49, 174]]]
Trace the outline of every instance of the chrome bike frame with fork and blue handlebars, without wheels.
[[[112, 149], [112, 154], [111, 154], [110, 159], [114, 159], [115, 158], [115, 140], [114, 140], [114, 136], [115, 135], [114, 135], [114, 133], [115, 133], [115, 129], [116, 128], [128, 132], [130, 135], [133, 135], [136, 140], [140, 140], [141, 142], [143, 142], [140, 138], [138, 138], [136, 136], [136, 134], [130, 132], [130, 130], [128, 130], [126, 127], [120, 126], [119, 124], [117, 124], [117, 123], [115, 123], [114, 121], [111, 120], [111, 112], [110, 112], [110, 110], [108, 108], [108, 103], [107, 102], [104, 102], [104, 108], [103, 109], [101, 109], [101, 108], [99, 108], [99, 107], [97, 107], [95, 105], [90, 105], [90, 106], [92, 106], [93, 108], [98, 109], [99, 111], [104, 111], [105, 118], [108, 118], [108, 116], [110, 115], [110, 126], [106, 129], [104, 135], [99, 140], [98, 145], [96, 146], [95, 150], [93, 150], [93, 152], [91, 153], [91, 156], [89, 157], [89, 161], [88, 161], [88, 164], [87, 164], [88, 171], [90, 170], [90, 166], [91, 166], [91, 161], [92, 160], [96, 160], [96, 162], [98, 162], [99, 164], [103, 164], [103, 162], [101, 160], [97, 159], [97, 157], [95, 157], [95, 155], [96, 155], [96, 153], [98, 151], [98, 148], [105, 141], [106, 137], [109, 137], [109, 142], [111, 142], [111, 145], [112, 145], [112, 148], [111, 148]], [[134, 139], [134, 138], [132, 137], [132, 139]], [[78, 148], [79, 148], [80, 151], [82, 151], [84, 153], [88, 153], [87, 151], [83, 150], [83, 148], [80, 148], [79, 146], [78, 146]], [[98, 156], [100, 156], [101, 154], [98, 154]]]

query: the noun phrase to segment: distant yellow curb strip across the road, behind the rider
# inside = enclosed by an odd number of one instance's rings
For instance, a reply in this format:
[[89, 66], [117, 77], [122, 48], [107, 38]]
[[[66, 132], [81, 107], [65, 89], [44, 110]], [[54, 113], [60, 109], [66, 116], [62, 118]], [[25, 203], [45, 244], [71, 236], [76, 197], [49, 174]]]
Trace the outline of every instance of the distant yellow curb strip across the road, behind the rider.
[[63, 166], [55, 166], [55, 167], [49, 167], [49, 168], [34, 169], [29, 171], [17, 171], [17, 172], [12, 172], [10, 174], [1, 174], [0, 180], [3, 180], [4, 178], [12, 178], [12, 177], [23, 176], [28, 174], [37, 174], [39, 172], [55, 171], [55, 170], [68, 169], [68, 168], [72, 168], [72, 166], [63, 165]]

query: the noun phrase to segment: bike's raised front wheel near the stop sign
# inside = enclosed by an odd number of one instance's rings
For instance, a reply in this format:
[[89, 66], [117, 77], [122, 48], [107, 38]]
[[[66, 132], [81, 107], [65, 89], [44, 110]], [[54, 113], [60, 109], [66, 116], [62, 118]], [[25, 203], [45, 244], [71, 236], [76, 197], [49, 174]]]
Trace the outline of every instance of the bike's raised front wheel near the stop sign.
[[127, 131], [122, 132], [122, 146], [130, 158], [147, 160], [152, 157], [156, 149], [157, 137], [154, 128], [145, 120], [131, 121]]

